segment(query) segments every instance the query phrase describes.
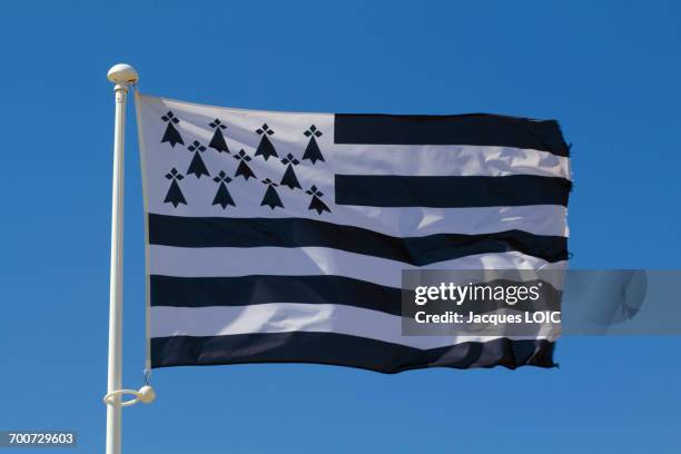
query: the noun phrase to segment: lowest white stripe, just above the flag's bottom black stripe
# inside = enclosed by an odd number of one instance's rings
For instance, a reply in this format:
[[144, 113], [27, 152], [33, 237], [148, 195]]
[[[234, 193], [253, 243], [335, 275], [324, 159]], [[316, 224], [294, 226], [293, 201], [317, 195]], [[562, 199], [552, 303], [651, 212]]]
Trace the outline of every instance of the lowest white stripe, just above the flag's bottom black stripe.
[[402, 317], [334, 304], [270, 303], [254, 306], [151, 307], [150, 337], [226, 336], [255, 333], [337, 333], [427, 349], [495, 338], [536, 336], [404, 336]]

